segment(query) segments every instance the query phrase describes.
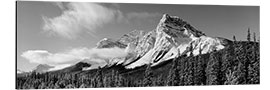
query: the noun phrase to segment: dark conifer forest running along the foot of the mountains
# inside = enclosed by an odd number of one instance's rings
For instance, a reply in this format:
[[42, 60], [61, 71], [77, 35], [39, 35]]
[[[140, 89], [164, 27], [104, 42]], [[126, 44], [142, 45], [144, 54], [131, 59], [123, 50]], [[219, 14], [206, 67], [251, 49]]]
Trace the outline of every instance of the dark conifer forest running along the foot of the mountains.
[[132, 72], [105, 71], [92, 73], [31, 73], [17, 77], [17, 89], [152, 87], [190, 85], [260, 84], [260, 45], [248, 29], [247, 41], [237, 41], [222, 50], [172, 59], [167, 68], [146, 65]]

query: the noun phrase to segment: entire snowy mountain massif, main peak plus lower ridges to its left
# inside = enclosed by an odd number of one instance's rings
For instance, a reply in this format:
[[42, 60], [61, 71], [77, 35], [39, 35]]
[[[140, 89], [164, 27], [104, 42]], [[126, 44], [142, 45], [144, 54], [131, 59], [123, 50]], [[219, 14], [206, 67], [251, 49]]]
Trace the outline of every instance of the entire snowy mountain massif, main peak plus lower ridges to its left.
[[[118, 40], [103, 39], [97, 48], [124, 48], [125, 58], [112, 59], [110, 64], [121, 64], [126, 68], [135, 68], [145, 64], [152, 66], [161, 62], [187, 55], [212, 52], [223, 49], [230, 40], [208, 37], [177, 16], [164, 14], [155, 30], [144, 33], [135, 30]], [[191, 48], [192, 47], [192, 48]]]

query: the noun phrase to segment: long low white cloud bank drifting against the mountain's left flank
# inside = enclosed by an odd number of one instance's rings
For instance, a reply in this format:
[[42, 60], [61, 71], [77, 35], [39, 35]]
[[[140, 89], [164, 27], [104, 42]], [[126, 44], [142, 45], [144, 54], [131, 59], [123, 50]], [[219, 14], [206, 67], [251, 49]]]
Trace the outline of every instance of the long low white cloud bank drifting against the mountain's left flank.
[[65, 67], [82, 60], [88, 60], [96, 64], [108, 62], [111, 58], [126, 57], [127, 52], [120, 48], [75, 48], [65, 52], [50, 53], [46, 50], [28, 50], [21, 55], [31, 63], [48, 64]]

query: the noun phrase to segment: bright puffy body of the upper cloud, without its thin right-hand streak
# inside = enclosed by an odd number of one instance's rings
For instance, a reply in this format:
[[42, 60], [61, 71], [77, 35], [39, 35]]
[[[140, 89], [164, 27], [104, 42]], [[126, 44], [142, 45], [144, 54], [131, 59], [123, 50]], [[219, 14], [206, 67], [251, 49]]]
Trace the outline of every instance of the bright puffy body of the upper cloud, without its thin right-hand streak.
[[68, 39], [74, 39], [83, 32], [95, 36], [97, 27], [121, 16], [120, 11], [95, 3], [72, 2], [56, 3], [56, 5], [63, 10], [62, 15], [54, 18], [43, 17], [43, 29]]

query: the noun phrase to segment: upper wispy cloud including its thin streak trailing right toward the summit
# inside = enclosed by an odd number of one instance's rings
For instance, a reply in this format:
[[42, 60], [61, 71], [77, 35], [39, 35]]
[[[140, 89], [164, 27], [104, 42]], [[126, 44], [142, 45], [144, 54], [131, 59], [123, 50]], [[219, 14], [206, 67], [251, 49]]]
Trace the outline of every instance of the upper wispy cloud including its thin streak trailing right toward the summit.
[[[60, 16], [43, 16], [43, 30], [50, 35], [75, 39], [83, 33], [97, 37], [96, 29], [110, 22], [129, 22], [132, 19], [146, 19], [161, 15], [149, 12], [122, 13], [119, 4], [97, 3], [55, 3], [63, 12]], [[107, 7], [105, 7], [107, 6]], [[110, 7], [110, 8], [109, 8]]]

